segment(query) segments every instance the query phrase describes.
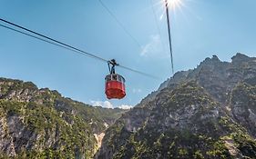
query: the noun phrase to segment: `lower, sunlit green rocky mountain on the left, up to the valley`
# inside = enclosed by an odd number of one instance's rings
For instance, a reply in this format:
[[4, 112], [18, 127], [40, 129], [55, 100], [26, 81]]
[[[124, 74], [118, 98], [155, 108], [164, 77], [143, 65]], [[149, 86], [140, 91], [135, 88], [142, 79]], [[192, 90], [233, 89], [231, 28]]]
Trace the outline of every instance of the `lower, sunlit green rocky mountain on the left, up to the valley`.
[[0, 78], [0, 158], [92, 158], [124, 112]]

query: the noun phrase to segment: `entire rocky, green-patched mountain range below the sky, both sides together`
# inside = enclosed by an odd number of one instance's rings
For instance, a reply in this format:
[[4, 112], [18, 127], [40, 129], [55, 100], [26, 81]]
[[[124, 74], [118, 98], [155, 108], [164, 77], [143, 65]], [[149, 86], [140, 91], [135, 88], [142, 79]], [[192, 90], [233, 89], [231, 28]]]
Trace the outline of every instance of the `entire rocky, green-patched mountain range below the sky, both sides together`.
[[256, 58], [231, 59], [176, 73], [126, 113], [0, 78], [0, 158], [256, 158]]

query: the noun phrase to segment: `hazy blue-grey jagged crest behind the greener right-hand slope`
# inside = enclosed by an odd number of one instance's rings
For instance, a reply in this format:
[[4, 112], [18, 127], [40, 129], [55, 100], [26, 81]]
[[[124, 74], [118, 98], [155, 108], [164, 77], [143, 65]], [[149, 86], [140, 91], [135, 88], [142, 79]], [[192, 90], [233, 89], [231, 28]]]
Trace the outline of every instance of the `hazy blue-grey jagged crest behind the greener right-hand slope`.
[[221, 62], [216, 55], [213, 55], [212, 58], [206, 58], [193, 70], [176, 73], [161, 84], [157, 91], [148, 94], [138, 106], [152, 101], [163, 88], [175, 88], [175, 86], [190, 80], [197, 81], [220, 103], [228, 102], [227, 98], [229, 98], [231, 89], [239, 82], [246, 81], [256, 84], [256, 58], [238, 53], [231, 59], [231, 63]]

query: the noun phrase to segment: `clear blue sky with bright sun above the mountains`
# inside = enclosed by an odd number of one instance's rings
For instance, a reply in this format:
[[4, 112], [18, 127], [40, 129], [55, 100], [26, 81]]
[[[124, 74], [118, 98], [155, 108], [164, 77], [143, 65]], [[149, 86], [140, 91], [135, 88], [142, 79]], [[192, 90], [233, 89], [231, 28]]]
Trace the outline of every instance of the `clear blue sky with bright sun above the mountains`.
[[[32, 81], [40, 88], [56, 89], [87, 104], [108, 107], [138, 104], [171, 76], [163, 3], [161, 0], [102, 2], [139, 45], [98, 0], [1, 0], [0, 15], [89, 53], [115, 58], [121, 65], [157, 75], [159, 80], [117, 68], [127, 80], [127, 97], [108, 101], [104, 94], [107, 64], [2, 27], [0, 76]], [[222, 61], [230, 61], [237, 52], [255, 56], [255, 0], [181, 0], [180, 3], [170, 10], [176, 72], [194, 68], [211, 55], [218, 55]]]

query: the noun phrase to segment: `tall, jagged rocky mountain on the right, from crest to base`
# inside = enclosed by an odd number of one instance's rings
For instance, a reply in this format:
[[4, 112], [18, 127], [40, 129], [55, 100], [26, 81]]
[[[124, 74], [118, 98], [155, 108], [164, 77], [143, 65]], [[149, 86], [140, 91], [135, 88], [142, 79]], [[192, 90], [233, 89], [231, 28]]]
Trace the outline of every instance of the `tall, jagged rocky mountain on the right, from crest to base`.
[[176, 73], [108, 128], [95, 158], [256, 158], [256, 58]]

